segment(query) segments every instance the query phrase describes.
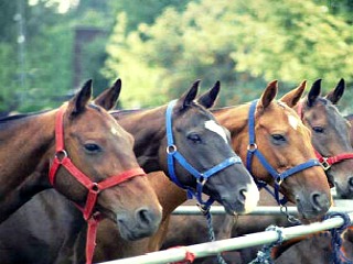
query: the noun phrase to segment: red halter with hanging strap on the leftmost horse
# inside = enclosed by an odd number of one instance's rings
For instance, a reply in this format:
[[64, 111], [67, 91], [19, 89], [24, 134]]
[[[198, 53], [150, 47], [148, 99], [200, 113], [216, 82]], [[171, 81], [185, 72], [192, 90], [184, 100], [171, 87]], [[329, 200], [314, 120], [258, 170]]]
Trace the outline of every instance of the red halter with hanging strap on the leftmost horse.
[[95, 249], [96, 231], [98, 222], [104, 218], [99, 212], [94, 212], [94, 206], [98, 194], [107, 188], [116, 186], [122, 182], [128, 180], [135, 176], [146, 175], [143, 169], [140, 167], [126, 170], [119, 175], [115, 175], [104, 179], [103, 182], [95, 183], [92, 182], [83, 172], [81, 172], [71, 161], [65, 151], [64, 146], [64, 123], [63, 117], [65, 112], [65, 105], [62, 106], [56, 113], [55, 122], [55, 156], [49, 172], [49, 180], [54, 186], [55, 176], [60, 166], [64, 166], [86, 189], [88, 190], [86, 205], [84, 208], [77, 206], [77, 208], [83, 212], [84, 219], [88, 223], [87, 229], [87, 240], [86, 240], [86, 263], [92, 263], [93, 253]]

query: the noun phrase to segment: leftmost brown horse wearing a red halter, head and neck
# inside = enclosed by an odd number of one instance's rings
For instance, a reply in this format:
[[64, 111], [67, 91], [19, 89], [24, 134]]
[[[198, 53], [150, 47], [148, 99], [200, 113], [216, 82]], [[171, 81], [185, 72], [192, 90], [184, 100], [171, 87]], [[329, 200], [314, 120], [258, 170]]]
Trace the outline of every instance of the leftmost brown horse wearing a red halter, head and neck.
[[[127, 240], [156, 232], [162, 216], [158, 198], [132, 152], [132, 136], [107, 112], [119, 94], [120, 80], [100, 103], [93, 103], [88, 80], [58, 109], [0, 120], [2, 223], [36, 193], [54, 186], [83, 211], [92, 230], [106, 217]], [[10, 263], [25, 262], [20, 252], [10, 255]], [[1, 263], [6, 256], [1, 249]]]

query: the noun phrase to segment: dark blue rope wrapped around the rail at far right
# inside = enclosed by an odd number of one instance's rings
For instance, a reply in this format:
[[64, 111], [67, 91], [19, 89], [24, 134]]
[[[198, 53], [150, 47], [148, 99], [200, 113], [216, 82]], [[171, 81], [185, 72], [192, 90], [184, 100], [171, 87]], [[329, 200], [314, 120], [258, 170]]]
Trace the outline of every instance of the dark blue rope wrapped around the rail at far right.
[[331, 246], [332, 246], [332, 261], [334, 264], [352, 264], [353, 262], [349, 260], [342, 251], [342, 232], [351, 226], [351, 218], [346, 212], [330, 212], [324, 219], [330, 219], [332, 217], [343, 218], [343, 224], [340, 228], [330, 229], [331, 233]]

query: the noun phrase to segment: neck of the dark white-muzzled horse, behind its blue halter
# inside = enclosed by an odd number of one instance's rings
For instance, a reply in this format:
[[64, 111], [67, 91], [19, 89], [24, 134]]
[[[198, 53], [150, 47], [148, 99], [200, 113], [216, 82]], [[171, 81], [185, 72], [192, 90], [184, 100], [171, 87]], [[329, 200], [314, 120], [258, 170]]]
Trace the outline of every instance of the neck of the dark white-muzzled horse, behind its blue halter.
[[111, 112], [119, 124], [132, 134], [135, 155], [147, 173], [161, 169], [159, 150], [165, 141], [164, 112], [165, 107]]

